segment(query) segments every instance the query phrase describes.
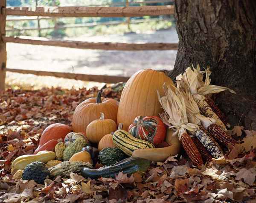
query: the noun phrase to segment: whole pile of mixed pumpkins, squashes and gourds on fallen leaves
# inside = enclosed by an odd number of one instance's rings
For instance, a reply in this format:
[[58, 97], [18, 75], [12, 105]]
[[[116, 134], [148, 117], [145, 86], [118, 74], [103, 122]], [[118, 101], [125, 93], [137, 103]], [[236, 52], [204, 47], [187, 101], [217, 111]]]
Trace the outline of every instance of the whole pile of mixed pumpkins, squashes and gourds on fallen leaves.
[[[91, 178], [114, 177], [120, 171], [146, 171], [151, 161], [163, 162], [179, 153], [179, 139], [158, 117], [163, 109], [157, 90], [163, 96], [164, 83], [173, 85], [163, 72], [141, 70], [125, 84], [120, 102], [102, 98], [101, 92], [85, 100], [74, 111], [72, 128], [59, 123], [49, 125], [35, 153], [12, 162], [14, 178], [27, 180], [32, 171], [42, 172], [38, 168], [44, 168], [45, 174], [38, 183], [70, 172]], [[93, 169], [98, 158], [105, 167]]]

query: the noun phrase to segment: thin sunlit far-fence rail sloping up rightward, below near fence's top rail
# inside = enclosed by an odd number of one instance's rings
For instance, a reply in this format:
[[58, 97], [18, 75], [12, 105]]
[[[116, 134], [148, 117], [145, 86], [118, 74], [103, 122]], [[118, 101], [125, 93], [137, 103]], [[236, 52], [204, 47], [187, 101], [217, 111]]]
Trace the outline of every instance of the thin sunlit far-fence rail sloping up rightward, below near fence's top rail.
[[[131, 20], [131, 24], [136, 23], [147, 23], [147, 22], [154, 22], [159, 20], [170, 20], [170, 18], [165, 19], [138, 19], [138, 20]], [[57, 25], [55, 27], [43, 27], [43, 28], [22, 28], [22, 29], [6, 29], [6, 32], [14, 32], [14, 31], [21, 31], [21, 30], [44, 30], [44, 29], [65, 29], [65, 28], [79, 28], [79, 27], [95, 27], [95, 26], [110, 26], [110, 25], [119, 25], [121, 23], [126, 23], [124, 20], [115, 20], [110, 22], [102, 22], [102, 23], [75, 23], [75, 24], [67, 24], [67, 25]]]

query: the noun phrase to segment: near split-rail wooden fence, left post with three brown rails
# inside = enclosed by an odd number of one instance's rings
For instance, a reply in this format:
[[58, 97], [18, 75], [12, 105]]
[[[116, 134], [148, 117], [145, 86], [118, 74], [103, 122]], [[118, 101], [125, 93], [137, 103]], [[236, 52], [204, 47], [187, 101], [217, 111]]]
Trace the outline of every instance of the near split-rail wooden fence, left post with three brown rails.
[[[153, 1], [153, 0], [151, 0]], [[154, 2], [157, 0], [154, 0]], [[35, 75], [50, 75], [55, 77], [73, 78], [85, 81], [98, 81], [116, 83], [127, 81], [127, 77], [110, 75], [86, 75], [72, 73], [58, 73], [35, 70], [16, 70], [6, 68], [6, 43], [33, 44], [45, 46], [61, 46], [76, 49], [103, 49], [103, 50], [169, 50], [177, 49], [177, 44], [170, 43], [91, 43], [81, 41], [51, 41], [33, 38], [18, 38], [6, 36], [6, 16], [36, 16], [36, 17], [140, 17], [174, 14], [173, 6], [125, 6], [125, 7], [87, 7], [87, 6], [64, 6], [64, 7], [6, 7], [6, 0], [0, 0], [0, 90], [5, 89], [6, 71], [18, 73], [30, 73]]]

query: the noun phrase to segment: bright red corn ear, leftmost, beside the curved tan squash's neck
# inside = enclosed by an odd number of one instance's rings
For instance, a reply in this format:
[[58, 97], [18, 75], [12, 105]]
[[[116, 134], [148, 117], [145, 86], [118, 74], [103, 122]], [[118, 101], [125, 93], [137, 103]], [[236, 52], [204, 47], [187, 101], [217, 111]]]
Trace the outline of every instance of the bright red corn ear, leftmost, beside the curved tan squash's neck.
[[201, 165], [203, 164], [203, 159], [201, 157], [200, 152], [198, 151], [198, 148], [196, 147], [195, 143], [193, 142], [189, 134], [182, 134], [181, 143], [187, 155], [191, 159], [192, 163], [198, 167], [201, 167]]

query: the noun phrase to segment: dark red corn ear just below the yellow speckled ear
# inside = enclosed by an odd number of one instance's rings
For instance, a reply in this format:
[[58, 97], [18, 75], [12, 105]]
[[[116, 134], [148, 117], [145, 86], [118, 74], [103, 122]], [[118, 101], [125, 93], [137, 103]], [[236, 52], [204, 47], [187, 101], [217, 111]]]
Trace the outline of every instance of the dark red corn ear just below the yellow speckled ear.
[[233, 137], [229, 134], [227, 134], [225, 131], [223, 131], [220, 126], [216, 124], [209, 125], [207, 129], [210, 133], [210, 135], [220, 144], [223, 146], [227, 146], [228, 144], [235, 145], [236, 140], [233, 139]]

